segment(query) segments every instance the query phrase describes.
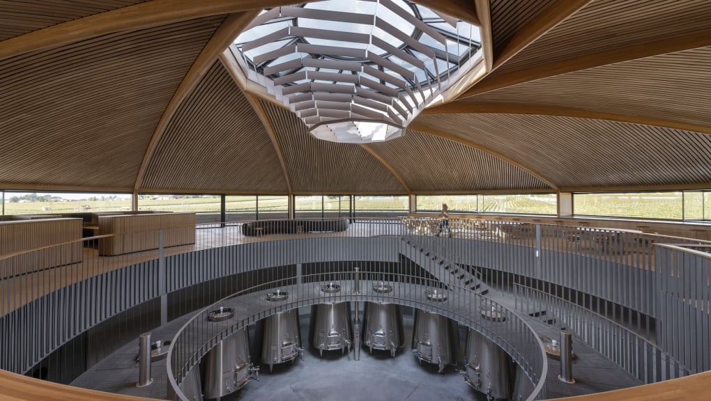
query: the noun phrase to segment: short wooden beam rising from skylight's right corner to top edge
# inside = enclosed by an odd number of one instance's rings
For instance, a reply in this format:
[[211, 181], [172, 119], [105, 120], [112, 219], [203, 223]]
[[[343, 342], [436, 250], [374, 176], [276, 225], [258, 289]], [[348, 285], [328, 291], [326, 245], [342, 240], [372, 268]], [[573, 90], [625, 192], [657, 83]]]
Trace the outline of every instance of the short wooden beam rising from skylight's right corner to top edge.
[[506, 43], [501, 45], [501, 49], [496, 51], [496, 60], [493, 62], [493, 69], [501, 67], [503, 63], [520, 53], [531, 43], [535, 42], [542, 35], [545, 35], [566, 18], [572, 16], [579, 9], [587, 6], [592, 0], [557, 0], [549, 4], [538, 16], [516, 31]]

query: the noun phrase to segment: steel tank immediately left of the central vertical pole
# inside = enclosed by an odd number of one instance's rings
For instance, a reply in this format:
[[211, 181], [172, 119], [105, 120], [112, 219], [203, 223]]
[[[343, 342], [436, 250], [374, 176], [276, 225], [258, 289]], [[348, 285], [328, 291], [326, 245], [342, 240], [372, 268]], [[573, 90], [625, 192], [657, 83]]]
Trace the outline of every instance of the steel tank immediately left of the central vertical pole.
[[309, 343], [319, 350], [351, 352], [353, 326], [351, 325], [351, 302], [316, 304], [311, 307]]

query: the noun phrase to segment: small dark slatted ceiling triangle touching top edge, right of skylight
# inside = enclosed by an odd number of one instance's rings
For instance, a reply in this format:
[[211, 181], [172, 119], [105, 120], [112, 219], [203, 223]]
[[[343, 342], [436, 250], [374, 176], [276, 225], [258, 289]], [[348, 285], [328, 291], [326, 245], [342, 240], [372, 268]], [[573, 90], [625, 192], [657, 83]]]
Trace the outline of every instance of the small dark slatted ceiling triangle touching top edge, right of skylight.
[[491, 0], [493, 48], [501, 48], [521, 26], [529, 23], [554, 0]]

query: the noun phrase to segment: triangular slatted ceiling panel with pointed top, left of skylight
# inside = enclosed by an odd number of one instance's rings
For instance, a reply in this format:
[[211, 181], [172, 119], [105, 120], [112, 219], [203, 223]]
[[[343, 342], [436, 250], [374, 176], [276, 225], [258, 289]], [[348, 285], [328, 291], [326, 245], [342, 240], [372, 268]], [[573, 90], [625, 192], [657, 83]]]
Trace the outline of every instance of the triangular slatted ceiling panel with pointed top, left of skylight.
[[142, 187], [287, 192], [267, 131], [220, 62], [171, 119]]

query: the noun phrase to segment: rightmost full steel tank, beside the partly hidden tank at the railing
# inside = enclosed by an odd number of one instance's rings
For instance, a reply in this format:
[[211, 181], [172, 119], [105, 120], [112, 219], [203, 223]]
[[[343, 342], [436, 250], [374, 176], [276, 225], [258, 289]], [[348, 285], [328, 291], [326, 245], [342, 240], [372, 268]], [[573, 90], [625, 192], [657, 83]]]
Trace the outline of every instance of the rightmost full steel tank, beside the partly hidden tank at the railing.
[[466, 334], [465, 358], [466, 383], [486, 394], [487, 400], [510, 399], [516, 365], [506, 351], [478, 331], [469, 329]]

